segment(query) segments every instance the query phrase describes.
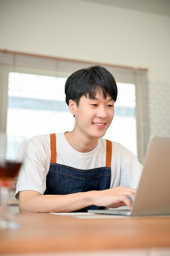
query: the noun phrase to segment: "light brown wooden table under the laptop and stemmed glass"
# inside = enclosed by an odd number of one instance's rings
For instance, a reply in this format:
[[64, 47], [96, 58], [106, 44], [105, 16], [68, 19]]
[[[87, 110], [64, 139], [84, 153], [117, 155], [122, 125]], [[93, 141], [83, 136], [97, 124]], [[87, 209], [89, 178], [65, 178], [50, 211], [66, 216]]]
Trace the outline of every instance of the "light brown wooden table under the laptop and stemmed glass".
[[170, 249], [170, 216], [110, 217], [75, 218], [50, 213], [15, 213], [12, 219], [19, 222], [21, 228], [0, 230], [0, 255], [160, 247]]

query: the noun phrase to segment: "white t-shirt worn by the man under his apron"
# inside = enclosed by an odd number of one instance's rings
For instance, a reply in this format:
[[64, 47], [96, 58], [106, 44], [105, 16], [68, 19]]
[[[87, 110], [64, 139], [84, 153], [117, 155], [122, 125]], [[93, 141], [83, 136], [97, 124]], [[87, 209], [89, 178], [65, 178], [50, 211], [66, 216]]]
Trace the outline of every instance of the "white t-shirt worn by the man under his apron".
[[[106, 140], [100, 138], [97, 146], [87, 153], [76, 151], [67, 142], [64, 132], [56, 134], [57, 163], [73, 168], [88, 170], [106, 164]], [[51, 160], [50, 135], [39, 135], [29, 140], [26, 145], [24, 163], [18, 175], [15, 197], [19, 191], [33, 190], [44, 194], [46, 175]], [[142, 165], [137, 157], [117, 142], [112, 142], [110, 188], [126, 186], [137, 188]]]

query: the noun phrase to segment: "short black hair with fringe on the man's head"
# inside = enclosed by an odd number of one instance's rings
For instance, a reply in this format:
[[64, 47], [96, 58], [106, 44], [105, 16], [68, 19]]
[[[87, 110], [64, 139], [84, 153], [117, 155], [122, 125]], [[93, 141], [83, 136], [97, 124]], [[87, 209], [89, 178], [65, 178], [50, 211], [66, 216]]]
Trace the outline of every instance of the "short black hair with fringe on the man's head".
[[110, 96], [114, 101], [117, 99], [117, 85], [113, 75], [101, 66], [86, 67], [77, 70], [68, 77], [65, 84], [66, 103], [69, 99], [79, 104], [83, 95], [94, 99], [96, 93], [102, 89], [103, 97]]

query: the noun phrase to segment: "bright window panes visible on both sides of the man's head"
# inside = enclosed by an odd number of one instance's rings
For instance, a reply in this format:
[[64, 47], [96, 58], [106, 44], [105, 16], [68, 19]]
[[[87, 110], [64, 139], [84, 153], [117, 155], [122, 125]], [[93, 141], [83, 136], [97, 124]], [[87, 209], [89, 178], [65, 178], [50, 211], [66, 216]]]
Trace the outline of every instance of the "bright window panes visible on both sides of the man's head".
[[[29, 139], [72, 130], [74, 117], [65, 102], [65, 82], [64, 77], [9, 72], [7, 133]], [[135, 85], [117, 83], [117, 87], [114, 121], [104, 137], [137, 155]]]

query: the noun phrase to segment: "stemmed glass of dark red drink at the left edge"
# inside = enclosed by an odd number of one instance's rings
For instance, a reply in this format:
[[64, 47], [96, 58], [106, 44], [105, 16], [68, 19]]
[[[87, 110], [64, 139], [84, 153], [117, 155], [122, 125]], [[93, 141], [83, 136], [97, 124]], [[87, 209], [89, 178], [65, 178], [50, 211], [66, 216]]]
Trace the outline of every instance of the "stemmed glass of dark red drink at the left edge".
[[0, 229], [17, 229], [8, 214], [9, 190], [18, 176], [24, 156], [24, 139], [0, 132]]

